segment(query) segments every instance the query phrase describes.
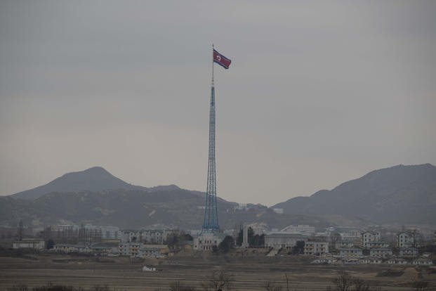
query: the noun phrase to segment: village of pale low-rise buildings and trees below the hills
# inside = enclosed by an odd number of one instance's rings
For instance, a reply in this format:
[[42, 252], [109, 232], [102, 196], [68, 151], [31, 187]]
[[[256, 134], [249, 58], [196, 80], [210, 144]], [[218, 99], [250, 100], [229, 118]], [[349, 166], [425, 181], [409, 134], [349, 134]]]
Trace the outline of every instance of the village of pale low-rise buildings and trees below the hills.
[[[417, 228], [397, 233], [329, 227], [315, 232], [314, 226], [290, 225], [255, 233], [256, 227], [235, 231], [201, 233], [178, 229], [121, 230], [117, 226], [58, 225], [30, 235], [22, 224], [3, 236], [2, 248], [35, 252], [165, 259], [178, 252], [194, 254], [252, 253], [265, 257], [312, 258], [311, 264], [389, 264], [430, 266], [434, 264], [436, 232]], [[5, 235], [10, 238], [5, 238]], [[227, 244], [225, 246], [224, 244]], [[243, 252], [248, 254], [249, 252]]]

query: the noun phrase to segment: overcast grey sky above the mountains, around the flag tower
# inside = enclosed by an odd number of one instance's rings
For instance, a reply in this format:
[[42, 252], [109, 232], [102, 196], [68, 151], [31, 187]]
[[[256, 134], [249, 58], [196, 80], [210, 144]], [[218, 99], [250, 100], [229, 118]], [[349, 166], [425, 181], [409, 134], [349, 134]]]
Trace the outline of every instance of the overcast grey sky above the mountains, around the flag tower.
[[0, 1], [0, 194], [95, 165], [273, 205], [436, 164], [436, 1]]

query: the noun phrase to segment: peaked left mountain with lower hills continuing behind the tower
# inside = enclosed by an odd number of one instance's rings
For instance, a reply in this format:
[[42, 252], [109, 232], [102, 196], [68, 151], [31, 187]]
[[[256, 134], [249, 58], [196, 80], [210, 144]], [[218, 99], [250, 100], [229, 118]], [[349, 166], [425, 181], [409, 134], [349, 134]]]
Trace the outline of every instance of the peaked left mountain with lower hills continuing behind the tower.
[[[101, 167], [65, 174], [50, 183], [0, 197], [0, 224], [26, 226], [55, 224], [113, 225], [121, 228], [174, 227], [199, 229], [205, 193], [176, 185], [145, 188], [128, 184]], [[263, 205], [237, 209], [237, 203], [217, 198], [220, 226], [231, 229], [242, 222], [282, 228], [289, 224], [331, 226], [317, 217], [281, 215]]]

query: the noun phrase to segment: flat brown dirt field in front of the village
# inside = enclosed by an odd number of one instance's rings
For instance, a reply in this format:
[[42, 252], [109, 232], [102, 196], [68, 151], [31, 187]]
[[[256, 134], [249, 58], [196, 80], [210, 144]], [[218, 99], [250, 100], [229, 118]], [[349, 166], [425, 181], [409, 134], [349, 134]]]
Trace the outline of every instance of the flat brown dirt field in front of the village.
[[[29, 287], [53, 284], [93, 287], [108, 285], [117, 290], [156, 290], [167, 288], [176, 280], [200, 287], [214, 271], [234, 276], [234, 290], [265, 290], [266, 282], [286, 285], [285, 274], [291, 279], [292, 290], [326, 290], [338, 271], [346, 270], [369, 281], [381, 290], [414, 290], [409, 283], [418, 278], [416, 268], [408, 266], [315, 266], [303, 257], [215, 257], [207, 255], [178, 256], [170, 259], [132, 262], [126, 257], [75, 257], [67, 255], [29, 255], [26, 259], [0, 257], [0, 289], [18, 283]], [[161, 271], [143, 272], [142, 266], [157, 266]], [[388, 270], [403, 271], [395, 277]], [[419, 270], [436, 290], [436, 273]], [[433, 270], [434, 272], [434, 270]]]

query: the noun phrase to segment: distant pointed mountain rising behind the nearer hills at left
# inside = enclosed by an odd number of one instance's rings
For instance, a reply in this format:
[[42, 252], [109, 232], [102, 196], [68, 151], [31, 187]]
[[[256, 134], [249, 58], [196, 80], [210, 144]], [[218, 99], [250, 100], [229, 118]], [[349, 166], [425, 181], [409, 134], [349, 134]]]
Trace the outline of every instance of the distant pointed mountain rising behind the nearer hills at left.
[[[177, 186], [159, 186], [177, 187]], [[72, 172], [54, 179], [43, 186], [25, 190], [11, 195], [13, 198], [34, 200], [51, 192], [79, 192], [83, 190], [147, 190], [142, 186], [135, 186], [118, 179], [103, 167], [92, 167], [81, 172]]]

